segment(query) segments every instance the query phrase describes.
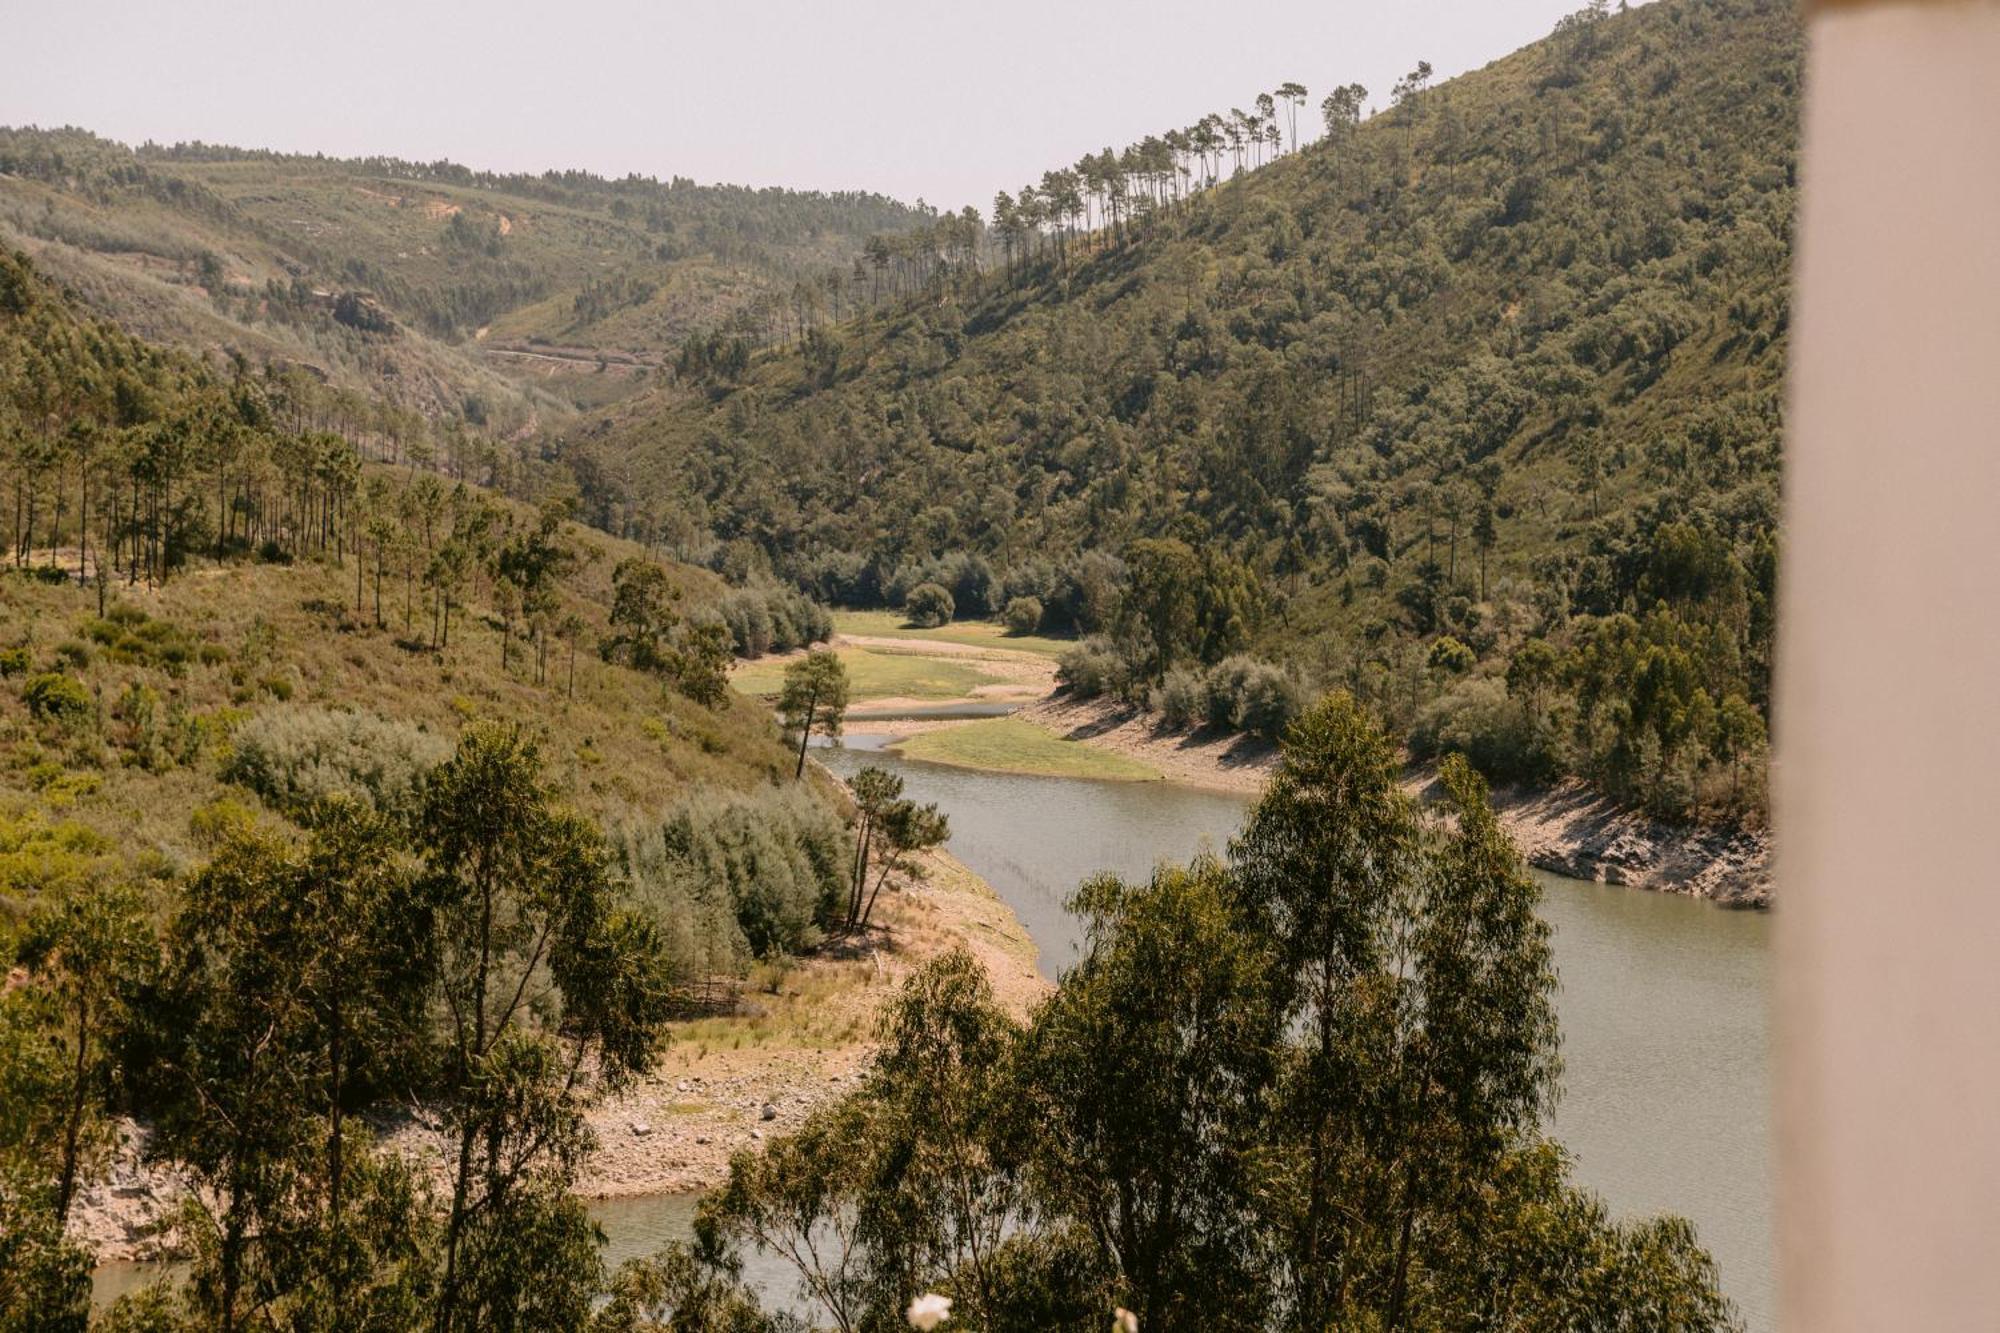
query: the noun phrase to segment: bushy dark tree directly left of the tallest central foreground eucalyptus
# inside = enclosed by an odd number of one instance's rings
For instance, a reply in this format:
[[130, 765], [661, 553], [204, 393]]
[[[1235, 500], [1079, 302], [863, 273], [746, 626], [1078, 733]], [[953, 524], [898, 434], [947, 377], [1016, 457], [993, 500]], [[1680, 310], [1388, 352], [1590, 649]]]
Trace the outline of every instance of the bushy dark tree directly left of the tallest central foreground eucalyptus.
[[1084, 955], [1022, 1041], [1030, 1183], [1142, 1329], [1254, 1329], [1268, 1295], [1252, 1155], [1272, 957], [1212, 857], [1086, 881]]

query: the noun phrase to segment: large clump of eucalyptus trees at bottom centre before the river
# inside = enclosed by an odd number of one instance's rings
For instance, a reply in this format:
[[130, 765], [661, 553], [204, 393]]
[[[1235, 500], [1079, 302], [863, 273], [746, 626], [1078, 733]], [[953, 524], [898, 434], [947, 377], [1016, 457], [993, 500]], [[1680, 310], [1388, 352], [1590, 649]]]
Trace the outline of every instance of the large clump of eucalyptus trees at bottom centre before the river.
[[758, 1245], [836, 1327], [920, 1293], [986, 1329], [1738, 1327], [1684, 1221], [1568, 1179], [1536, 885], [1464, 761], [1436, 811], [1398, 771], [1330, 697], [1226, 859], [1076, 891], [1084, 957], [1024, 1025], [926, 967], [864, 1087], [658, 1261], [660, 1323], [750, 1309]]

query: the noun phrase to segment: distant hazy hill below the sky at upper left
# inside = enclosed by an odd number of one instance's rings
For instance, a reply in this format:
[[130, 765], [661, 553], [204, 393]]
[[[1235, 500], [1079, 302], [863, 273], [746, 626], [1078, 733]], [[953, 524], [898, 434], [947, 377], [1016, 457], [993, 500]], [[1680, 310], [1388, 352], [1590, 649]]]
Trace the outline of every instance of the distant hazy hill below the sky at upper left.
[[0, 242], [98, 312], [502, 430], [632, 392], [694, 334], [754, 346], [844, 314], [864, 238], [920, 216], [860, 192], [0, 130]]

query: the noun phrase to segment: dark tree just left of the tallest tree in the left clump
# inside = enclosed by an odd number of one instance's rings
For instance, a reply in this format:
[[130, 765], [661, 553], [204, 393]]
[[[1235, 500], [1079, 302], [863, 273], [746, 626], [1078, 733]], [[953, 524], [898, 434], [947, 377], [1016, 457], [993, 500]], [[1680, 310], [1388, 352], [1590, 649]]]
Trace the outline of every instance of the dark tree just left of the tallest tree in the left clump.
[[220, 1329], [322, 1297], [364, 1325], [408, 1319], [428, 1275], [424, 1203], [346, 1109], [424, 1067], [430, 911], [382, 817], [316, 823], [306, 847], [228, 833], [168, 927], [138, 1033], [156, 1147], [200, 1183], [188, 1301]]

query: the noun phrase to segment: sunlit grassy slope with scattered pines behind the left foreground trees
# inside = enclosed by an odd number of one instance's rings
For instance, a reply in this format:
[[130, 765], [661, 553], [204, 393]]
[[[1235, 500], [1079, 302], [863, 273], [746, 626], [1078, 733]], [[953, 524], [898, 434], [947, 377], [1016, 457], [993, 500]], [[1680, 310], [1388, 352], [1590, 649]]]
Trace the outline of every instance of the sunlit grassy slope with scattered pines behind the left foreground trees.
[[[472, 721], [528, 727], [604, 821], [790, 779], [724, 662], [702, 699], [598, 652], [646, 550], [292, 430], [316, 414], [310, 382], [140, 342], [0, 250], [0, 939], [72, 877], [164, 893], [202, 811], [382, 801]], [[660, 568], [668, 656], [756, 596]]]

